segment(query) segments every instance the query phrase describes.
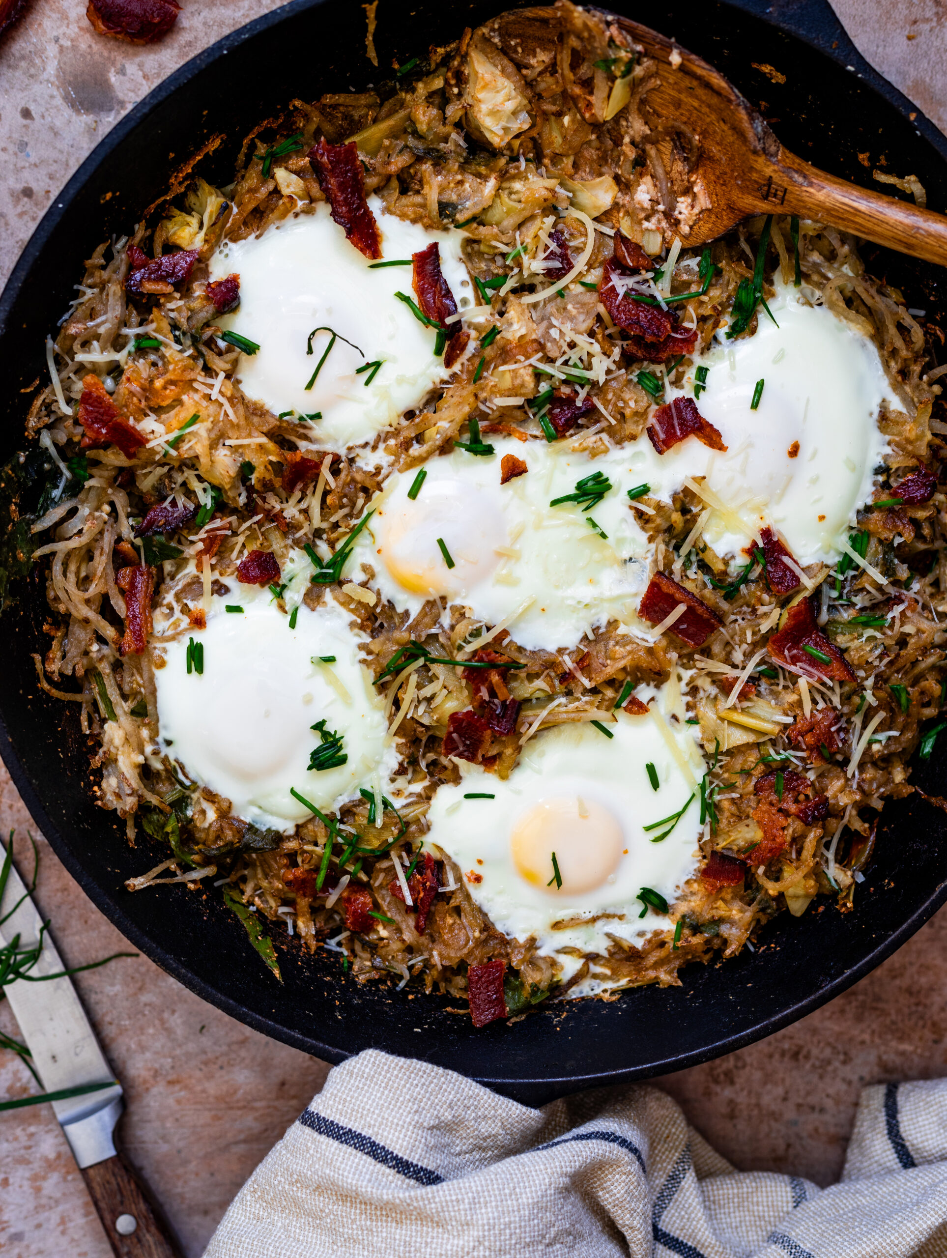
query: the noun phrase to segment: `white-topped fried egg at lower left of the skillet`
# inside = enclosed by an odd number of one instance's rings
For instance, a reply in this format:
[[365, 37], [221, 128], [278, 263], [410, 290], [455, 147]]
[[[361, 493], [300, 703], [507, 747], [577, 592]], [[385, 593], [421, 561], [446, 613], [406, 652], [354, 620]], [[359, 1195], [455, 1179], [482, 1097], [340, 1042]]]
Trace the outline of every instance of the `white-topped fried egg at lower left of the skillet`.
[[[367, 639], [331, 595], [316, 610], [301, 603], [304, 574], [289, 569], [287, 579], [294, 628], [270, 590], [230, 580], [210, 600], [206, 629], [165, 645], [155, 679], [161, 751], [229, 799], [235, 816], [288, 834], [312, 815], [293, 790], [331, 813], [390, 781], [397, 756], [360, 660]], [[200, 673], [192, 660], [189, 671], [191, 642], [202, 648]], [[326, 742], [319, 722], [346, 760], [313, 770], [311, 755]]]

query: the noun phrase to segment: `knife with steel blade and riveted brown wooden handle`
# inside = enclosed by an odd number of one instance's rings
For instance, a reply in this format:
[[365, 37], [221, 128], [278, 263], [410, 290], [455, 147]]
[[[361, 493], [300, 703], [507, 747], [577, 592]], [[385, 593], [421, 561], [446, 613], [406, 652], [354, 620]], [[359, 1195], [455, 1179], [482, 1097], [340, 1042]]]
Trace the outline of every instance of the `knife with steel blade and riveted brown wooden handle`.
[[[0, 843], [0, 864], [5, 848]], [[18, 905], [19, 906], [14, 907]], [[116, 1258], [184, 1258], [160, 1208], [114, 1146], [114, 1127], [122, 1113], [122, 1084], [96, 1039], [75, 988], [68, 975], [31, 981], [64, 969], [49, 932], [10, 866], [0, 901], [0, 942], [19, 935], [20, 946], [43, 950], [29, 979], [18, 979], [3, 991], [10, 1001], [33, 1066], [47, 1092], [107, 1084], [83, 1096], [53, 1101], [53, 1112], [69, 1141], [93, 1205]], [[42, 933], [40, 933], [42, 932]]]

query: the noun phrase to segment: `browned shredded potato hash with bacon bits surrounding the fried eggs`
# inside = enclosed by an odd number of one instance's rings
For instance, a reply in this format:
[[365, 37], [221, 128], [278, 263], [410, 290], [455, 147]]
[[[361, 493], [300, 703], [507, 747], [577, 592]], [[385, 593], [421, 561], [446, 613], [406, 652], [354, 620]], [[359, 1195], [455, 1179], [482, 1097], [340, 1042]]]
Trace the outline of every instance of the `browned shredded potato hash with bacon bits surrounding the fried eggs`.
[[[566, 995], [591, 965], [623, 985], [675, 984], [682, 965], [736, 955], [782, 908], [799, 916], [822, 894], [850, 910], [884, 800], [912, 790], [908, 757], [923, 722], [941, 713], [947, 676], [946, 501], [933, 481], [923, 501], [908, 494], [860, 513], [851, 546], [864, 564], [846, 556], [835, 569], [805, 569], [819, 630], [854, 681], [800, 686], [799, 669], [772, 657], [750, 679], [747, 665], [785, 626], [799, 590], [773, 593], [761, 571], [737, 580], [699, 535], [684, 562], [680, 543], [704, 506], [690, 488], [670, 506], [643, 496], [629, 509], [658, 543], [655, 571], [719, 618], [702, 647], [689, 647], [673, 626], [648, 645], [612, 624], [586, 638], [572, 652], [575, 667], [563, 671], [557, 655], [526, 650], [507, 632], [490, 639], [497, 654], [482, 658], [523, 665], [489, 674], [493, 694], [519, 704], [512, 732], [490, 731], [482, 749], [482, 762], [499, 777], [516, 765], [527, 732], [581, 721], [590, 710], [610, 712], [631, 688], [665, 682], [678, 662], [693, 671], [689, 702], [711, 766], [702, 784], [706, 866], [670, 908], [673, 932], [654, 931], [640, 949], [615, 940], [607, 956], [586, 957], [570, 984], [534, 941], [494, 928], [444, 853], [425, 847], [421, 855], [430, 798], [438, 785], [459, 781], [444, 738], [451, 716], [472, 707], [469, 671], [421, 662], [384, 682], [400, 771], [415, 790], [399, 813], [385, 808], [380, 827], [376, 800], [358, 799], [330, 824], [313, 816], [288, 837], [260, 830], [233, 815], [229, 800], [191, 782], [186, 766], [151, 750], [155, 668], [167, 640], [148, 632], [152, 603], [158, 623], [172, 615], [184, 623], [180, 635], [202, 624], [206, 582], [223, 591], [253, 552], [272, 554], [280, 566], [304, 543], [336, 552], [385, 469], [419, 467], [455, 440], [470, 440], [472, 419], [484, 434], [546, 440], [542, 411], [529, 401], [550, 374], [558, 374], [557, 385], [567, 382], [568, 369], [587, 374], [572, 398], [575, 414], [563, 413], [563, 431], [553, 437], [590, 454], [646, 439], [655, 403], [639, 371], [684, 380], [741, 286], [752, 283], [765, 233], [761, 296], [772, 296], [776, 273], [792, 282], [797, 258], [804, 299], [874, 341], [904, 408], [880, 420], [890, 454], [875, 498], [897, 498], [899, 483], [936, 470], [932, 428], [947, 426], [931, 416], [936, 380], [947, 367], [931, 370], [923, 330], [902, 293], [868, 276], [855, 240], [829, 224], [795, 225], [797, 253], [794, 225], [780, 218], [750, 220], [709, 250], [689, 250], [688, 225], [706, 204], [699, 146], [654, 126], [648, 91], [656, 69], [639, 53], [620, 28], [557, 0], [555, 9], [506, 14], [465, 31], [385, 92], [294, 101], [277, 126], [248, 138], [230, 186], [197, 180], [153, 229], [140, 224], [132, 237], [101, 245], [49, 342], [50, 384], [29, 418], [39, 443], [29, 457], [40, 457], [49, 476], [43, 508], [29, 523], [40, 542], [33, 559], [48, 564], [50, 640], [36, 657], [39, 684], [75, 704], [82, 730], [97, 740], [101, 805], [126, 820], [132, 843], [137, 825], [170, 847], [170, 858], [130, 889], [204, 881], [208, 894], [219, 894], [210, 883], [223, 882], [277, 975], [268, 935], [282, 937], [287, 927], [309, 950], [343, 952], [360, 982], [390, 975], [400, 986], [415, 980], [465, 999], [470, 975], [482, 984], [506, 975], [507, 1014]], [[319, 140], [351, 138], [366, 194], [428, 228], [463, 224], [472, 277], [501, 279], [480, 289], [490, 309], [479, 333], [484, 348], [462, 357], [446, 387], [357, 457], [326, 453], [317, 423], [280, 419], [241, 392], [239, 348], [221, 340], [206, 265], [223, 238], [240, 240], [312, 213], [324, 194], [309, 150]], [[615, 326], [600, 284], [619, 240], [639, 254], [643, 248], [645, 263], [683, 240], [673, 291], [699, 289], [674, 307], [675, 335], [688, 352], [655, 361]], [[190, 268], [184, 252], [192, 253]], [[570, 273], [556, 287], [563, 258]], [[538, 297], [547, 288], [551, 296]], [[755, 333], [757, 317], [755, 306], [742, 335]], [[485, 343], [488, 326], [498, 335]], [[83, 424], [88, 411], [80, 409], [93, 395], [98, 428]], [[498, 405], [506, 398], [524, 401]], [[319, 474], [294, 484], [301, 457]], [[512, 464], [509, 474], [517, 474]], [[140, 536], [153, 508], [194, 501], [196, 518], [176, 522], [171, 512], [160, 531]], [[136, 585], [126, 575], [142, 570], [151, 572], [153, 595], [142, 593], [143, 579]], [[409, 623], [384, 601], [367, 604], [357, 584], [331, 589], [371, 639], [375, 677], [409, 643], [454, 658], [492, 628], [463, 606], [443, 614], [436, 601]], [[324, 586], [313, 585], [307, 603], [323, 596]], [[728, 711], [755, 718], [756, 728], [752, 720], [721, 716], [737, 684]], [[884, 737], [874, 738], [875, 731]], [[933, 733], [927, 737], [929, 755]], [[335, 830], [338, 823], [355, 833], [355, 848]], [[405, 874], [416, 888], [411, 908], [392, 889]], [[475, 969], [493, 962], [503, 966]], [[474, 1020], [503, 1015], [472, 1011]]]

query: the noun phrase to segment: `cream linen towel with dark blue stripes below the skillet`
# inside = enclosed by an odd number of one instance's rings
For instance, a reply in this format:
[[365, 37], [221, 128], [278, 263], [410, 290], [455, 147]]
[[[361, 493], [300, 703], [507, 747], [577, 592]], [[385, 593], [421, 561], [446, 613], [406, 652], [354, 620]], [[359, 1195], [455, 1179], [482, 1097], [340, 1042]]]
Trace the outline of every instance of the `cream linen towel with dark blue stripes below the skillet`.
[[861, 1093], [841, 1180], [736, 1171], [656, 1088], [531, 1110], [375, 1050], [243, 1186], [205, 1258], [947, 1258], [947, 1081]]

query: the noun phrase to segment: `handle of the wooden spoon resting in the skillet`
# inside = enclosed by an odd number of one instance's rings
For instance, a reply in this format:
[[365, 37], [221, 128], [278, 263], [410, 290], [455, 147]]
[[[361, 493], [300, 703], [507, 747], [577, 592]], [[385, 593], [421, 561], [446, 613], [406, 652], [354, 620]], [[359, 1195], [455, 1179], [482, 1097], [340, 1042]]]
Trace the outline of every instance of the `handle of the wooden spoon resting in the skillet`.
[[785, 148], [742, 182], [747, 214], [797, 214], [947, 267], [947, 218], [826, 175]]

